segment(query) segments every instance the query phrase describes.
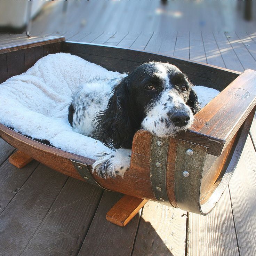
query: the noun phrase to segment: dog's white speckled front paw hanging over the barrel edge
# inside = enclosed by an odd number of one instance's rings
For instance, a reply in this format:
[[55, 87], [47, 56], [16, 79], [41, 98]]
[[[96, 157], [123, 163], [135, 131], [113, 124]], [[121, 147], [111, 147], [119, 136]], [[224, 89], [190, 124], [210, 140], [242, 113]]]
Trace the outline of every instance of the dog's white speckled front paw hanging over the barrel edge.
[[102, 153], [93, 164], [93, 173], [103, 178], [123, 176], [130, 167], [131, 149], [117, 149], [112, 153]]

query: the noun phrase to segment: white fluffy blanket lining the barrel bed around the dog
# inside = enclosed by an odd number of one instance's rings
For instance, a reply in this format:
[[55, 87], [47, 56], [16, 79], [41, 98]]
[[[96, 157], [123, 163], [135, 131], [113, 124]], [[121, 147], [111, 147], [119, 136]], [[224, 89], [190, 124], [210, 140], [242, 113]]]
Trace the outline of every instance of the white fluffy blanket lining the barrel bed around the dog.
[[[67, 119], [72, 94], [95, 77], [114, 78], [118, 72], [71, 54], [50, 54], [27, 72], [0, 85], [0, 122], [32, 138], [46, 139], [62, 150], [95, 158], [111, 152], [95, 139], [75, 133]], [[206, 105], [219, 92], [195, 86], [199, 101]]]

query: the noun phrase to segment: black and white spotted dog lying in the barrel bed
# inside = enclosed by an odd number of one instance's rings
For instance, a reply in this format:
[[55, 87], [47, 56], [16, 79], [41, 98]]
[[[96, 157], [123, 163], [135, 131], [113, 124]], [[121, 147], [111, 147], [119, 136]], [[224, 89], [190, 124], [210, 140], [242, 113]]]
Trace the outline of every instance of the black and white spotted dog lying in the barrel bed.
[[104, 178], [123, 176], [130, 166], [134, 134], [143, 128], [155, 136], [174, 136], [191, 127], [199, 111], [192, 84], [176, 66], [150, 62], [129, 75], [95, 79], [73, 96], [69, 122], [74, 131], [116, 149], [102, 153], [93, 171]]

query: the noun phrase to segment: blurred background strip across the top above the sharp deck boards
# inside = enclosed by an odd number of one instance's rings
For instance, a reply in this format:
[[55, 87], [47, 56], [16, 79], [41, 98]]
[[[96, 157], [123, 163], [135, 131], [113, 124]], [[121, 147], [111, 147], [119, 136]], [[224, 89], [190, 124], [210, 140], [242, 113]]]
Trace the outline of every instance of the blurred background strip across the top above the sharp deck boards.
[[0, 0], [0, 32], [254, 31], [255, 1]]

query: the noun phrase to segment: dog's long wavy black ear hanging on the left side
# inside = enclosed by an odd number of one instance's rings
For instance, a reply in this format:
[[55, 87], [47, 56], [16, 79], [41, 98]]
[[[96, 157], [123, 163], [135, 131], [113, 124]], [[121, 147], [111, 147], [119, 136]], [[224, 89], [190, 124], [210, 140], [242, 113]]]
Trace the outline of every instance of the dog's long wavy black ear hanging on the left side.
[[110, 148], [131, 148], [134, 136], [130, 118], [129, 78], [124, 78], [114, 89], [107, 109], [99, 112], [96, 119], [95, 138]]

